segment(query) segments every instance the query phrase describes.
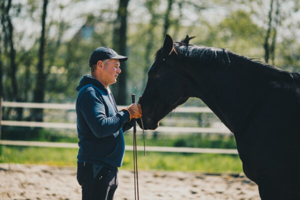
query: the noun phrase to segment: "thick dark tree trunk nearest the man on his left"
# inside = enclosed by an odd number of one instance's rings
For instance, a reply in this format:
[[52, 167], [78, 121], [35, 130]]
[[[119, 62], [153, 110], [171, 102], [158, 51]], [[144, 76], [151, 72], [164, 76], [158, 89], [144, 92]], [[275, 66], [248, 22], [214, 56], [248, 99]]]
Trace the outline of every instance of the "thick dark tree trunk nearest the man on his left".
[[[42, 16], [41, 16], [41, 36], [40, 36], [40, 46], [38, 52], [36, 87], [33, 93], [34, 102], [44, 101], [46, 74], [44, 73], [43, 70], [44, 70], [44, 46], [45, 46], [45, 19], [46, 19], [47, 4], [48, 4], [48, 0], [44, 0], [42, 6]], [[43, 109], [35, 109], [35, 111], [33, 112], [33, 119], [35, 121], [42, 121]]]

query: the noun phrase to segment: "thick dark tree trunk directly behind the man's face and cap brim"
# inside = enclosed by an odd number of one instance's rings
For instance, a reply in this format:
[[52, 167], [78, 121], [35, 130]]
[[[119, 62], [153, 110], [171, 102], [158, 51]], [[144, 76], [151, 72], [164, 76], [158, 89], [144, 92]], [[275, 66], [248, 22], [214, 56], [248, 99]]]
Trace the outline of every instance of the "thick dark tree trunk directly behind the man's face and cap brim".
[[[126, 32], [127, 32], [127, 5], [129, 0], [119, 0], [117, 18], [113, 27], [113, 49], [120, 55], [126, 55]], [[116, 83], [112, 85], [117, 104], [126, 104], [126, 62], [121, 63], [121, 74]]]

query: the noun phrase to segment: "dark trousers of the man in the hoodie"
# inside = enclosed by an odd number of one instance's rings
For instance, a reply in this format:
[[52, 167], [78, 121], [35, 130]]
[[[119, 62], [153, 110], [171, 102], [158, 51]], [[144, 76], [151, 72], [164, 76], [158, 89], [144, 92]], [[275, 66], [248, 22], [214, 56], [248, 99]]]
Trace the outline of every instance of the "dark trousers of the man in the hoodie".
[[112, 200], [117, 187], [117, 169], [101, 168], [94, 177], [91, 163], [77, 163], [77, 181], [82, 188], [82, 200]]

